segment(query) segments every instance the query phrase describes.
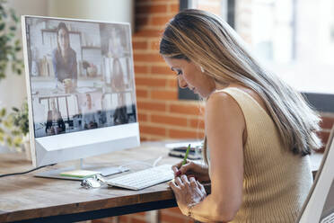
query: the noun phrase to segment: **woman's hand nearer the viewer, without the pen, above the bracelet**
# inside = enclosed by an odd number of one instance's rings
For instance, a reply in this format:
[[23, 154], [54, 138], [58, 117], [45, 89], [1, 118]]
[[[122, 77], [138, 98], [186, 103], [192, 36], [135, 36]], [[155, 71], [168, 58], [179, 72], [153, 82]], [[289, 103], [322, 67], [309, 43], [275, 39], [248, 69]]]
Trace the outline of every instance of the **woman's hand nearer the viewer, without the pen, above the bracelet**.
[[171, 181], [170, 186], [182, 214], [186, 216], [189, 214], [189, 206], [197, 204], [207, 197], [204, 186], [194, 177], [188, 178], [186, 175], [181, 175]]

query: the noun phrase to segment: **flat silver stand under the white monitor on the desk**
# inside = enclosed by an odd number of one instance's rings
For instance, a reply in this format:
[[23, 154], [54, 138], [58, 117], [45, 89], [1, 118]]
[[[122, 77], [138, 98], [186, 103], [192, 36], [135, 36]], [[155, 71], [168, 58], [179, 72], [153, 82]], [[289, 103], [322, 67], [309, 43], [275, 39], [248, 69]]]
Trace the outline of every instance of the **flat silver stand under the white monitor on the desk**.
[[69, 175], [62, 175], [61, 173], [68, 172], [68, 171], [74, 171], [74, 170], [88, 170], [93, 172], [101, 173], [103, 176], [109, 176], [112, 174], [120, 174], [123, 172], [128, 171], [129, 169], [127, 167], [123, 166], [106, 166], [106, 165], [84, 165], [83, 159], [80, 159], [78, 163], [71, 167], [65, 167], [65, 168], [57, 168], [45, 172], [41, 172], [38, 174], [34, 174], [36, 177], [45, 177], [45, 178], [57, 178], [57, 179], [65, 179], [65, 180], [75, 180], [75, 181], [82, 181], [84, 179], [83, 177], [75, 177], [75, 176], [69, 176]]

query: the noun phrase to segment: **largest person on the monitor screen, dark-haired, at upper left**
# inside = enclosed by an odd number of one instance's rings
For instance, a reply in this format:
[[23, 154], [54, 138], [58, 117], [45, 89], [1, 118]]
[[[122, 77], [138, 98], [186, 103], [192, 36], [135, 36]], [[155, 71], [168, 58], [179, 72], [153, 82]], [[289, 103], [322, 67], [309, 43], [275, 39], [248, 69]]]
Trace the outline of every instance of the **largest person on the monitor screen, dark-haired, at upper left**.
[[69, 32], [64, 22], [57, 26], [57, 48], [52, 51], [52, 63], [57, 86], [62, 85], [68, 92], [77, 85], [75, 50], [70, 46]]

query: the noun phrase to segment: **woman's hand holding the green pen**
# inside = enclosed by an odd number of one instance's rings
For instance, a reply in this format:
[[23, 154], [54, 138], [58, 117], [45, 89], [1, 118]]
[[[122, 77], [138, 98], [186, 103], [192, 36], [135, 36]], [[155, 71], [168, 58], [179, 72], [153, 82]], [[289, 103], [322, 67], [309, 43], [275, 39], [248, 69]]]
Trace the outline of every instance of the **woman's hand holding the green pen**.
[[199, 165], [189, 160], [187, 160], [185, 165], [181, 164], [182, 162], [171, 166], [175, 177], [186, 174], [188, 177], [195, 177], [198, 182], [210, 182], [207, 165]]

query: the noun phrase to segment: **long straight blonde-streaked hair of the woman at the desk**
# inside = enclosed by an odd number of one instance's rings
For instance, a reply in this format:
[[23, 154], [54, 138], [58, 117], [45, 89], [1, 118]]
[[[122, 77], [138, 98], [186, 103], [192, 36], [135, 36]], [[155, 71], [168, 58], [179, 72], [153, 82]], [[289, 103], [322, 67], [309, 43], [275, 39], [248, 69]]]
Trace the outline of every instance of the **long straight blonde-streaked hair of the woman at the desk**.
[[294, 153], [304, 156], [321, 147], [316, 135], [320, 130], [319, 115], [301, 94], [260, 67], [240, 37], [218, 16], [195, 9], [178, 13], [167, 23], [160, 53], [192, 61], [217, 83], [251, 88], [266, 103], [285, 146]]

